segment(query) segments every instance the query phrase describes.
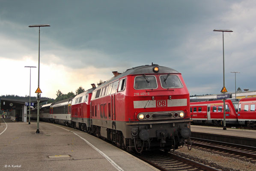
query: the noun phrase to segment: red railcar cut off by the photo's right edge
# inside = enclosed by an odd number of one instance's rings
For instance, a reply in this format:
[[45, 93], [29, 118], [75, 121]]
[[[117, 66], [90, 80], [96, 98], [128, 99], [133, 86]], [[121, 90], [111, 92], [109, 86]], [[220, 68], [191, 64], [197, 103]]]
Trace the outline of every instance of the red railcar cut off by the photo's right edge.
[[256, 127], [256, 97], [243, 98], [238, 103], [238, 122], [248, 127]]

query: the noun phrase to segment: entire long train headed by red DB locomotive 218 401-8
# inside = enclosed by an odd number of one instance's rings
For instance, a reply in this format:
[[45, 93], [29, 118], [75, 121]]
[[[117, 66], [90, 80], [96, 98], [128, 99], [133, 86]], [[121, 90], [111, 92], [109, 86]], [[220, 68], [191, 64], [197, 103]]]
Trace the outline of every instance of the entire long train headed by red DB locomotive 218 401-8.
[[138, 153], [177, 149], [191, 135], [190, 98], [182, 75], [154, 64], [128, 69], [73, 99], [42, 108], [43, 120], [88, 131]]

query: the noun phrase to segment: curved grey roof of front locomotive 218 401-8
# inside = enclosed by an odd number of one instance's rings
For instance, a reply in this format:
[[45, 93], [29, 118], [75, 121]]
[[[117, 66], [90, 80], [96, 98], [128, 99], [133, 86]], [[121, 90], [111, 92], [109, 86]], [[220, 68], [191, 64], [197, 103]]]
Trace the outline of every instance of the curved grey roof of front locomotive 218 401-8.
[[[153, 68], [155, 66], [158, 66], [158, 68], [159, 68], [159, 72], [158, 73], [155, 73], [153, 71]], [[130, 68], [130, 69], [126, 70], [125, 72], [123, 72], [122, 74], [120, 74], [120, 75], [118, 75], [116, 77], [113, 77], [110, 80], [107, 80], [105, 83], [99, 85], [97, 87], [97, 89], [101, 88], [101, 87], [104, 87], [104, 85], [107, 85], [108, 83], [111, 83], [111, 82], [113, 82], [115, 80], [118, 80], [119, 78], [125, 77], [127, 75], [137, 75], [137, 74], [168, 74], [168, 73], [180, 74], [178, 71], [176, 71], [176, 70], [174, 70], [172, 68], [168, 68], [168, 67], [164, 67], [164, 66], [159, 66], [157, 64], [142, 65], [142, 66]]]

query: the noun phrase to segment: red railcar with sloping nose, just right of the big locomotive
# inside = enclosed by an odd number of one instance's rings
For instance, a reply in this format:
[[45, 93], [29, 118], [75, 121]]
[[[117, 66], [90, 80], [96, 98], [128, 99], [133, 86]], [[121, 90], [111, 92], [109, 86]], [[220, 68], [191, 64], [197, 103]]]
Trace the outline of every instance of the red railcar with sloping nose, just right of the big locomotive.
[[[237, 113], [232, 101], [225, 100], [226, 124], [238, 124]], [[190, 112], [193, 123], [200, 124], [223, 124], [223, 101], [191, 102]]]

